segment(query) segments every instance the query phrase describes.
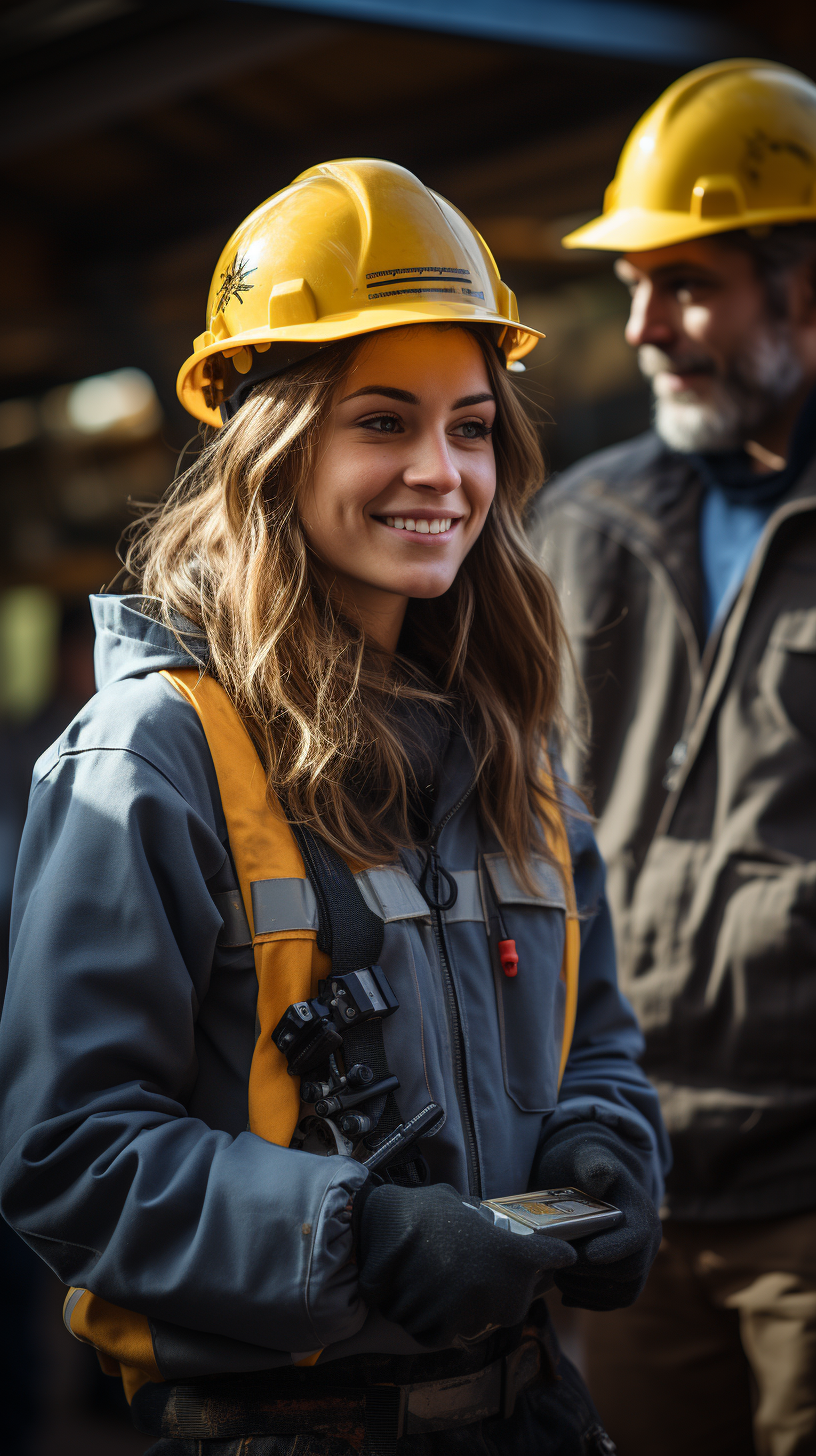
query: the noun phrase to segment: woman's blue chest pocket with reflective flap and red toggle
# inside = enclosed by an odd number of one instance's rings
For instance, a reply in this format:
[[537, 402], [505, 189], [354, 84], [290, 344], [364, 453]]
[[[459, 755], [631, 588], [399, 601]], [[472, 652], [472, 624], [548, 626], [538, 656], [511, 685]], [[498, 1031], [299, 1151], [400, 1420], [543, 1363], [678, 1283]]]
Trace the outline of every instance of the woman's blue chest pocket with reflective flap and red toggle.
[[[536, 858], [530, 866], [536, 894], [516, 882], [506, 855], [485, 855], [484, 866], [504, 1089], [523, 1112], [546, 1112], [558, 1099], [564, 1037], [564, 885], [545, 859]], [[516, 942], [516, 976], [506, 976], [498, 958], [500, 919]]]

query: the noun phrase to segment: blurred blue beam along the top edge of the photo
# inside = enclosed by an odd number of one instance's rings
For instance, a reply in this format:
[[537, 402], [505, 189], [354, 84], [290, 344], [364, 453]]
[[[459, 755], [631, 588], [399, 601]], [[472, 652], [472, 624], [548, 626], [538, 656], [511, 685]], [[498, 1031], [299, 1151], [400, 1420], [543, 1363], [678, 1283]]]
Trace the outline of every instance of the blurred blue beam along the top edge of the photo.
[[[245, 0], [230, 0], [245, 3]], [[252, 0], [271, 9], [372, 20], [421, 31], [476, 35], [596, 55], [679, 66], [745, 52], [740, 28], [663, 4], [628, 0]]]

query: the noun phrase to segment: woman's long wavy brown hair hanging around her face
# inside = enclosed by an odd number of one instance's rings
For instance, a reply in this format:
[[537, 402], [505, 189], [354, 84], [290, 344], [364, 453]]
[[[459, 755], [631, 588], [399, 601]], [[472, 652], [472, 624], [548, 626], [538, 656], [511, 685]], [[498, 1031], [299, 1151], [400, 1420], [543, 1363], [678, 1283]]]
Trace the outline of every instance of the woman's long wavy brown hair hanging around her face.
[[555, 591], [523, 530], [544, 479], [538, 435], [488, 335], [469, 332], [497, 400], [497, 492], [449, 591], [409, 603], [411, 657], [366, 641], [299, 515], [323, 425], [364, 338], [259, 384], [138, 523], [125, 566], [181, 642], [179, 616], [205, 635], [208, 671], [293, 821], [366, 866], [411, 844], [405, 712], [427, 703], [466, 724], [481, 814], [529, 885], [530, 850], [554, 858], [542, 837], [542, 817], [554, 823], [542, 750], [560, 727], [565, 639]]

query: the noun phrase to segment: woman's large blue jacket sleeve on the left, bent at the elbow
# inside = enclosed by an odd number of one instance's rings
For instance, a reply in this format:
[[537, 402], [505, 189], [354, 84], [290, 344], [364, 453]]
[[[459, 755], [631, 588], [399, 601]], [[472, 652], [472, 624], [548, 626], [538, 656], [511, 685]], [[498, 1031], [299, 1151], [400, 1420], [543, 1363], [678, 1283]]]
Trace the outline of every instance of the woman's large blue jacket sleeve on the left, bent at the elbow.
[[283, 1351], [347, 1338], [366, 1316], [347, 1213], [364, 1169], [187, 1111], [224, 846], [137, 753], [52, 760], [0, 1025], [3, 1216], [66, 1284], [156, 1321]]

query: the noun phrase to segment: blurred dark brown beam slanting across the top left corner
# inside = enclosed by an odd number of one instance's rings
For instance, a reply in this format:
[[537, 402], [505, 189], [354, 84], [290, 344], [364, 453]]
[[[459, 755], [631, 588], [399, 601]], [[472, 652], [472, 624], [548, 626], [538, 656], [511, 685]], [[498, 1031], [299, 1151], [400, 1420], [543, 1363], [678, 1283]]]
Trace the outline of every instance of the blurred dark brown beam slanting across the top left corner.
[[264, 61], [286, 61], [344, 29], [238, 4], [176, 19], [134, 38], [127, 48], [28, 79], [19, 90], [13, 82], [6, 84], [0, 99], [0, 159], [109, 127]]

